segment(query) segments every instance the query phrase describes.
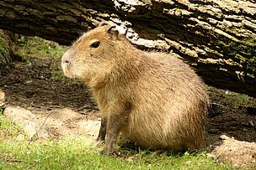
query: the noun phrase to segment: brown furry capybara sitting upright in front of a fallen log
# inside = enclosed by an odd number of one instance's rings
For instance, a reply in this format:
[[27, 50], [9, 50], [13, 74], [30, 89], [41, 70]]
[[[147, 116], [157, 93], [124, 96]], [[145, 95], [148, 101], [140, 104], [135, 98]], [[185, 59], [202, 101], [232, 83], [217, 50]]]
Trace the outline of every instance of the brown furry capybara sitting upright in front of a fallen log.
[[[99, 41], [99, 47], [91, 44]], [[134, 48], [115, 27], [100, 24], [62, 57], [64, 74], [83, 80], [98, 102], [104, 151], [120, 132], [141, 147], [194, 150], [203, 146], [209, 98], [205, 85], [175, 54]]]

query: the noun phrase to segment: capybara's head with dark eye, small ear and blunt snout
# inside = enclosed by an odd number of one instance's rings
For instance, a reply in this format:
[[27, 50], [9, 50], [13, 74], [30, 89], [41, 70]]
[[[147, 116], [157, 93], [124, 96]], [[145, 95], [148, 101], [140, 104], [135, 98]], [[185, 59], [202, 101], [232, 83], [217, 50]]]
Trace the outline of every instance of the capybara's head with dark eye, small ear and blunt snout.
[[121, 34], [109, 23], [84, 33], [63, 54], [61, 65], [64, 75], [89, 82], [111, 73], [120, 57]]

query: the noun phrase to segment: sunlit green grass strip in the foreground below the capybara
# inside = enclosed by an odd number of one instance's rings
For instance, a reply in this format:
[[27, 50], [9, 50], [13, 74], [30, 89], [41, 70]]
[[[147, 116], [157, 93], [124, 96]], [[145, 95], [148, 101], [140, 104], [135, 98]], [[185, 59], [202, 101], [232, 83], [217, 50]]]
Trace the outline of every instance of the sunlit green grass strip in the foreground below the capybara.
[[154, 152], [123, 148], [123, 156], [114, 157], [99, 154], [101, 148], [87, 145], [87, 137], [18, 141], [15, 137], [22, 133], [19, 127], [3, 115], [0, 121], [0, 131], [8, 136], [0, 140], [0, 169], [232, 169], [206, 157], [204, 152], [157, 156]]

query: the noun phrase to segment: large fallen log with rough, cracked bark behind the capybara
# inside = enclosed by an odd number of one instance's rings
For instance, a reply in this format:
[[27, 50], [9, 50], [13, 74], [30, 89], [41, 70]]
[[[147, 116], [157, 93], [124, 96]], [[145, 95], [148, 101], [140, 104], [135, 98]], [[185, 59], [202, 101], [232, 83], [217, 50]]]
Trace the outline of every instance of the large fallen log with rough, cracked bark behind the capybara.
[[140, 49], [173, 51], [206, 83], [256, 97], [254, 0], [3, 0], [0, 28], [71, 44], [112, 21]]

